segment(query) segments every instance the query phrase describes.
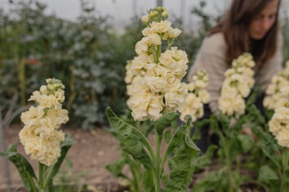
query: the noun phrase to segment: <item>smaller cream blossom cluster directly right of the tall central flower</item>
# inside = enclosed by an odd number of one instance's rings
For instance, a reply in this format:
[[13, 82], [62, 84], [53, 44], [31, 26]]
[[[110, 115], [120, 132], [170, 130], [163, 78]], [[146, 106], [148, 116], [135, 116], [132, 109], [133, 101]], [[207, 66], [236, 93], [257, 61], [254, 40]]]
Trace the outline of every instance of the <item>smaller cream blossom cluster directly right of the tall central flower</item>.
[[205, 70], [198, 71], [196, 76], [192, 77], [192, 81], [188, 84], [188, 96], [185, 105], [180, 111], [181, 120], [186, 121], [185, 116], [191, 115], [191, 122], [195, 122], [197, 118], [204, 115], [204, 104], [210, 102], [210, 94], [206, 90], [208, 86], [209, 75]]

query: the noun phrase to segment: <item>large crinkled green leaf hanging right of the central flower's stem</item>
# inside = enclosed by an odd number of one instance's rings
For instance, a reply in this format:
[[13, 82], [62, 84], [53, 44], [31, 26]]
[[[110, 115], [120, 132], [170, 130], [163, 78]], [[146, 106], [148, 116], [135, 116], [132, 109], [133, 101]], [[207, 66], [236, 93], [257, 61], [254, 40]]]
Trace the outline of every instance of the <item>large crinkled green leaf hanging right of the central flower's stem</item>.
[[191, 174], [194, 169], [192, 161], [200, 154], [198, 147], [187, 135], [182, 135], [182, 144], [178, 151], [169, 160], [171, 169], [165, 192], [183, 191], [191, 183]]

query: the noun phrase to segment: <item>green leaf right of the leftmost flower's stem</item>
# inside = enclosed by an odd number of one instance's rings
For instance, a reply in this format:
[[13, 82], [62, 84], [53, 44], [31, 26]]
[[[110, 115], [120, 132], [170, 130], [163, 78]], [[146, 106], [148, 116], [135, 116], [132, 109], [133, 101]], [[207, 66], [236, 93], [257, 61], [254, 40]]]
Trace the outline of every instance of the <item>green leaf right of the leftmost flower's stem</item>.
[[72, 138], [70, 133], [65, 133], [64, 141], [61, 142], [61, 157], [58, 158], [57, 162], [51, 165], [44, 173], [44, 188], [49, 187], [52, 190], [52, 178], [58, 173], [61, 168], [61, 164], [66, 157], [67, 152], [70, 150], [72, 144], [76, 141]]

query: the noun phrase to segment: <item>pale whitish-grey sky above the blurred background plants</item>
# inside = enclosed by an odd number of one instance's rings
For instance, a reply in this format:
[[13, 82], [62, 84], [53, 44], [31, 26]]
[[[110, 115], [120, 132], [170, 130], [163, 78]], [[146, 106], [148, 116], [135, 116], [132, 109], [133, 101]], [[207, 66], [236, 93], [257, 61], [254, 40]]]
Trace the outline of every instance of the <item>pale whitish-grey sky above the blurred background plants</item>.
[[[15, 0], [14, 0], [15, 1]], [[27, 1], [27, 0], [26, 0]], [[76, 20], [80, 14], [80, 0], [39, 0], [48, 5], [47, 14], [56, 14], [67, 19]], [[98, 14], [111, 15], [108, 20], [117, 27], [125, 26], [130, 22], [134, 14], [139, 16], [145, 14], [149, 8], [156, 7], [156, 0], [86, 0], [93, 5]], [[163, 7], [169, 10], [169, 15], [175, 15], [183, 18], [183, 23], [191, 29], [192, 25], [199, 22], [199, 18], [192, 16], [193, 6], [199, 6], [201, 0], [163, 0]], [[211, 15], [224, 13], [231, 3], [231, 0], [204, 0], [207, 5], [205, 12]], [[252, 0], [254, 1], [254, 0]], [[283, 0], [282, 13], [288, 9], [288, 0]], [[8, 7], [8, 0], [0, 0], [0, 6], [5, 9]]]

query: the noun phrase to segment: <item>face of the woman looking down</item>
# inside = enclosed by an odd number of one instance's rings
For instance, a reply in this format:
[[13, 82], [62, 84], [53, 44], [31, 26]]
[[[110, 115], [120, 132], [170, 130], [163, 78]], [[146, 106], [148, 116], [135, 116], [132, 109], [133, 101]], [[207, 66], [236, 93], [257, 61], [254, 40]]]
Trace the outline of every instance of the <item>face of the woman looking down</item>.
[[266, 7], [257, 14], [249, 24], [248, 31], [250, 38], [261, 40], [265, 37], [275, 23], [278, 12], [279, 0], [272, 0]]

